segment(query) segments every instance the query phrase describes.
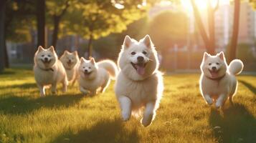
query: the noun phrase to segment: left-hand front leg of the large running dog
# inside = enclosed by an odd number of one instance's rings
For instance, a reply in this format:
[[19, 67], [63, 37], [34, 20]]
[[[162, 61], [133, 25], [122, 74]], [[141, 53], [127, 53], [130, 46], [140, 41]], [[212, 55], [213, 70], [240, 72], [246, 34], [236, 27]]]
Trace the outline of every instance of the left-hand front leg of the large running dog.
[[131, 99], [121, 96], [118, 98], [118, 102], [122, 110], [123, 121], [128, 121], [131, 117]]

